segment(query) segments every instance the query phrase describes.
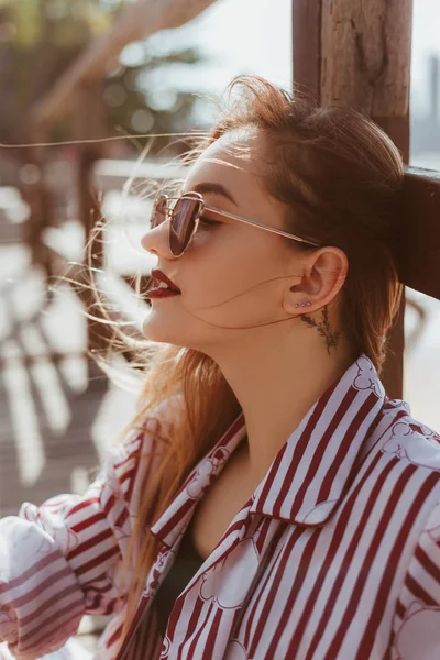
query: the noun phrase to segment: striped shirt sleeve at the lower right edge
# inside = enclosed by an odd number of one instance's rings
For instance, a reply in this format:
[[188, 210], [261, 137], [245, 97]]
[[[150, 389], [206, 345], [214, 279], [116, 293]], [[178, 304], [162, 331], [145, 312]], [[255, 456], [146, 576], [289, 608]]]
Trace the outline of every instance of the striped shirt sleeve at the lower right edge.
[[397, 602], [393, 658], [440, 658], [440, 504], [425, 525]]

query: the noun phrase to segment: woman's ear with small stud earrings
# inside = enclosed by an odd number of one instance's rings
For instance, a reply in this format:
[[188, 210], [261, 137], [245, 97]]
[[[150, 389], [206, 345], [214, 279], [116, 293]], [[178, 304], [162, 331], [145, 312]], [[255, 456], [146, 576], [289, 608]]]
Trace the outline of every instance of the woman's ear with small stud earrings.
[[[298, 254], [296, 260], [298, 260]], [[304, 302], [307, 314], [328, 305], [340, 292], [349, 271], [346, 254], [339, 248], [326, 246], [314, 252], [302, 252], [299, 256], [302, 276], [298, 284], [289, 288], [284, 307], [288, 314], [298, 314]], [[298, 261], [296, 262], [298, 268]]]

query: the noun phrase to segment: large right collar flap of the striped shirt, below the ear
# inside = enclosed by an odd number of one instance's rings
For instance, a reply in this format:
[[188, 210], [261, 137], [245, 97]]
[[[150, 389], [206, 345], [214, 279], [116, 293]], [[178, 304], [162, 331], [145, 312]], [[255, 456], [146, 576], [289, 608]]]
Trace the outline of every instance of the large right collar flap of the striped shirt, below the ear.
[[384, 405], [373, 363], [361, 355], [310, 408], [254, 493], [252, 513], [296, 525], [333, 514]]

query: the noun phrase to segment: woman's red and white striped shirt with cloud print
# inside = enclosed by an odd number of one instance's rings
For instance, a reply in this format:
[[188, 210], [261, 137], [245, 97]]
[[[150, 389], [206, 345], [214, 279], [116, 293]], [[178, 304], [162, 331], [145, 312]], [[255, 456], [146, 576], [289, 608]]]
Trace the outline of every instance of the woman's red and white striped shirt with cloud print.
[[[92, 613], [114, 614], [96, 658], [116, 658], [122, 560], [155, 465], [151, 424], [113, 452], [84, 497], [23, 505], [0, 521], [0, 637], [14, 657], [59, 648]], [[160, 552], [118, 657], [439, 660], [440, 438], [385, 396], [365, 356], [279, 450], [177, 598], [162, 639], [155, 593], [198, 501], [245, 435], [240, 414], [152, 526]]]

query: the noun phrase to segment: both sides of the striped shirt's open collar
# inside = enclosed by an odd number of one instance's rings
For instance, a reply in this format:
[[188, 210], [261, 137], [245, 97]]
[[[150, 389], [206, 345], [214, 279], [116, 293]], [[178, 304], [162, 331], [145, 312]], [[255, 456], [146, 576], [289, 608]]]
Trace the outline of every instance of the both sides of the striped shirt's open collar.
[[[250, 512], [296, 525], [322, 525], [350, 484], [356, 460], [380, 416], [385, 393], [373, 363], [361, 355], [316, 402], [278, 451], [254, 492]], [[153, 525], [169, 547], [197, 502], [246, 435], [241, 413], [193, 470]]]

